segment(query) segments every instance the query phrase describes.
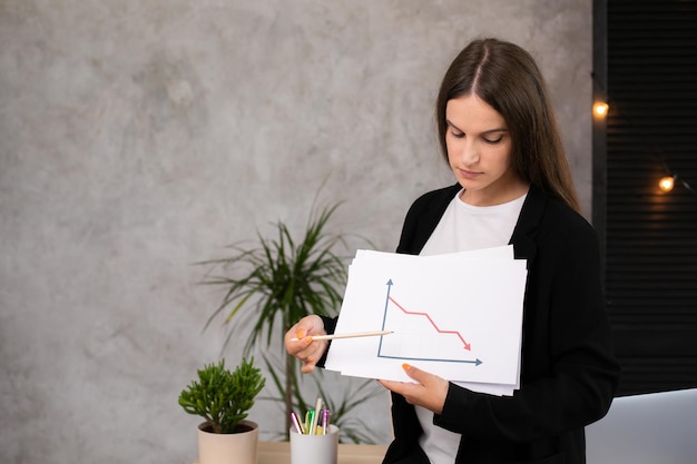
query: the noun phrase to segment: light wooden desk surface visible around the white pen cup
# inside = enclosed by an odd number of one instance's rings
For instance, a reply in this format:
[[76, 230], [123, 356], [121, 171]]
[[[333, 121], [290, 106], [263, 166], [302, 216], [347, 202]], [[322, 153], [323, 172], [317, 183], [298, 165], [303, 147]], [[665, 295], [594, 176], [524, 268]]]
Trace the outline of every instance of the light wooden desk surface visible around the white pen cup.
[[[387, 445], [338, 445], [337, 464], [381, 464]], [[257, 464], [291, 464], [291, 443], [259, 442]]]

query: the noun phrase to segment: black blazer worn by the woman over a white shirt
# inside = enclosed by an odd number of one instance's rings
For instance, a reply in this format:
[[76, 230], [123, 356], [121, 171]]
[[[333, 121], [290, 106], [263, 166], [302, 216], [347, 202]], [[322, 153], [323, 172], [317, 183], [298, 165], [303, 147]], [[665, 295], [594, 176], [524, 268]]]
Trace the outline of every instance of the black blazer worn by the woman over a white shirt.
[[[421, 251], [460, 188], [431, 191], [412, 205], [397, 253]], [[450, 384], [433, 422], [462, 434], [457, 463], [581, 464], [583, 427], [607, 413], [619, 377], [597, 235], [576, 211], [531, 187], [510, 244], [528, 260], [521, 388], [499, 397]], [[426, 463], [414, 407], [401, 395], [392, 401], [394, 441], [384, 464]]]

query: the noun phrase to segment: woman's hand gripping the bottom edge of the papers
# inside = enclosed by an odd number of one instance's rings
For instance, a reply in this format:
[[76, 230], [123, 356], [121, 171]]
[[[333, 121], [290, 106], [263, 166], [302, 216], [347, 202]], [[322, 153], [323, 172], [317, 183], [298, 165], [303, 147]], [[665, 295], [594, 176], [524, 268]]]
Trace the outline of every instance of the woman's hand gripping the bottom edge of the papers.
[[385, 388], [404, 396], [406, 403], [441, 414], [445, 396], [448, 396], [449, 382], [409, 364], [403, 364], [402, 367], [406, 375], [418, 382], [416, 384], [394, 381], [377, 382]]

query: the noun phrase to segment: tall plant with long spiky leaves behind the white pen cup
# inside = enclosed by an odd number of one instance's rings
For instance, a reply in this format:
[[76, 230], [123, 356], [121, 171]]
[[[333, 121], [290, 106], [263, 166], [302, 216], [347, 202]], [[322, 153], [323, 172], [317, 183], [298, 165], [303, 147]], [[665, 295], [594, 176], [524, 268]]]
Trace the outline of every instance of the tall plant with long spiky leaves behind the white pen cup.
[[[345, 237], [327, 233], [326, 225], [338, 206], [325, 207], [318, 214], [313, 208], [300, 239], [294, 238], [289, 228], [278, 221], [275, 237], [266, 238], [257, 233], [258, 240], [252, 245], [243, 241], [229, 246], [229, 257], [199, 263], [212, 267], [203, 283], [225, 288], [223, 300], [208, 318], [206, 327], [222, 313], [224, 324], [238, 323], [230, 324], [225, 345], [236, 330], [242, 332], [247, 337], [246, 355], [259, 342], [264, 342], [266, 348], [273, 340], [282, 343], [287, 327], [304, 316], [336, 315], [346, 285], [347, 258], [337, 255], [335, 248], [340, 245], [345, 249], [348, 247]], [[317, 395], [312, 396], [310, 402], [303, 399], [300, 364], [285, 354], [285, 348], [282, 347], [278, 356], [269, 355], [268, 351], [266, 353], [264, 358], [279, 393], [275, 399], [284, 404], [286, 435], [291, 412], [313, 405]], [[381, 391], [373, 384], [369, 386], [366, 383], [361, 392], [353, 392], [355, 398], [335, 402], [337, 411], [333, 412], [332, 418], [347, 440], [357, 442], [362, 436], [370, 436], [361, 434], [365, 425], [360, 419], [343, 422], [341, 415], [347, 412], [344, 406], [360, 404], [380, 394]], [[324, 396], [323, 392], [320, 393]], [[352, 428], [355, 430], [352, 432]]]

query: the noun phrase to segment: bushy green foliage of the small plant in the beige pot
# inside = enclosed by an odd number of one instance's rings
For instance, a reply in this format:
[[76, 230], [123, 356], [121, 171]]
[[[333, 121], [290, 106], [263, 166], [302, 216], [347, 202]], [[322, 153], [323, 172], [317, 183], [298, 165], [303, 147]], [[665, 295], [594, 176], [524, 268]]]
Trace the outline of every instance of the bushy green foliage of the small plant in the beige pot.
[[198, 381], [179, 394], [179, 405], [188, 414], [205, 418], [214, 433], [236, 433], [265, 383], [254, 367], [254, 357], [243, 358], [234, 372], [226, 369], [225, 359], [220, 359], [198, 371]]

